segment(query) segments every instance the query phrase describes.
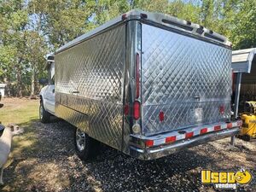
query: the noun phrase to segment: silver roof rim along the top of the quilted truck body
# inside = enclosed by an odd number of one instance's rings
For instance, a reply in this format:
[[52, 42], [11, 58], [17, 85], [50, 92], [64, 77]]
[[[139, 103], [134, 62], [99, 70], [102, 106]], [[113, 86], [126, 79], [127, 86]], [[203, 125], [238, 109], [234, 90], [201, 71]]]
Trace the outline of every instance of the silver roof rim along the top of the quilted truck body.
[[188, 20], [180, 20], [176, 17], [160, 14], [160, 13], [150, 13], [138, 9], [133, 9], [123, 15], [119, 15], [113, 20], [108, 20], [102, 26], [96, 27], [94, 30], [85, 33], [84, 35], [79, 36], [78, 38], [73, 39], [73, 41], [63, 45], [60, 49], [56, 50], [56, 53], [59, 53], [65, 49], [69, 49], [76, 44], [80, 44], [88, 38], [92, 38], [96, 34], [99, 34], [103, 31], [108, 30], [111, 27], [117, 26], [120, 23], [126, 22], [128, 20], [148, 20], [152, 21], [155, 24], [160, 24], [162, 26], [168, 26], [175, 28], [179, 31], [189, 32], [195, 36], [200, 36], [201, 38], [206, 38], [220, 44], [231, 46], [231, 43], [224, 36], [218, 34], [217, 32], [212, 32], [204, 26], [200, 26]]

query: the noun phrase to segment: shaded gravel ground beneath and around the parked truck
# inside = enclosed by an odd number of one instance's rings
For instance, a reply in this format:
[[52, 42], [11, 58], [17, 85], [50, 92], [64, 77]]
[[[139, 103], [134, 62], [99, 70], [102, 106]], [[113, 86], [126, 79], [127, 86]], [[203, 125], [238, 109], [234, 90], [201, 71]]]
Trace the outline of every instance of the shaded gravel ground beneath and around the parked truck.
[[[159, 160], [141, 161], [104, 147], [94, 160], [82, 162], [74, 152], [73, 126], [65, 121], [32, 123], [32, 148], [4, 170], [0, 191], [214, 191], [201, 185], [201, 169], [253, 173], [239, 191], [256, 191], [256, 142], [230, 138], [208, 143]], [[35, 138], [34, 138], [35, 137]], [[227, 190], [225, 190], [227, 191]]]

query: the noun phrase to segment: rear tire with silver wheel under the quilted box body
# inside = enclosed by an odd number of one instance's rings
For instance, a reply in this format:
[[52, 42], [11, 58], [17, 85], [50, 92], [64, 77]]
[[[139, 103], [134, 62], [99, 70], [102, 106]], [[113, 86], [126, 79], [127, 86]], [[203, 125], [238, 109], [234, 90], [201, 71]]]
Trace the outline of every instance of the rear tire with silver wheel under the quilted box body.
[[90, 160], [95, 155], [94, 148], [97, 146], [96, 140], [89, 137], [79, 128], [75, 128], [74, 131], [74, 145], [80, 160]]

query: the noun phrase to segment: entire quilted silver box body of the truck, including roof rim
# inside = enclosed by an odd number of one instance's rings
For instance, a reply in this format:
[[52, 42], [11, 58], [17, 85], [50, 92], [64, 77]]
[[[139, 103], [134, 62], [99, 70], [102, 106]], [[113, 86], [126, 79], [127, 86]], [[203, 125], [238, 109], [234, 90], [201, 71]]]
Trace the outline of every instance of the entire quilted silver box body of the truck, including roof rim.
[[[198, 29], [171, 16], [135, 10], [64, 45], [55, 53], [56, 116], [131, 155], [131, 137], [229, 120], [229, 42]], [[135, 101], [141, 103], [137, 120]], [[132, 131], [135, 124], [141, 127], [138, 133]]]

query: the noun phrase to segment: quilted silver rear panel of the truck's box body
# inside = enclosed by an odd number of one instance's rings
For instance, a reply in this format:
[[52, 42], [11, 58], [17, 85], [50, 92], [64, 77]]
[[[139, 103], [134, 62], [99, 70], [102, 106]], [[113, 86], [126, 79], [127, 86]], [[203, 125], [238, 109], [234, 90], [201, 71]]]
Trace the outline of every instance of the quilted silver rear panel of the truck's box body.
[[142, 31], [143, 134], [230, 119], [231, 50], [154, 26]]

